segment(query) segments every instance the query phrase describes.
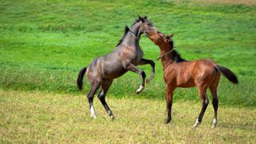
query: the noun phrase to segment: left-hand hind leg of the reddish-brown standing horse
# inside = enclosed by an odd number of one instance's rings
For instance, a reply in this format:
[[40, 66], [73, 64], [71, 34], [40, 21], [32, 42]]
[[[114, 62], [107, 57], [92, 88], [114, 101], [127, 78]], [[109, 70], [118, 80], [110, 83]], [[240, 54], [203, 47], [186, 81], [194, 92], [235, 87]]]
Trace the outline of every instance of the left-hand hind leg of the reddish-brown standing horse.
[[194, 123], [193, 128], [196, 128], [202, 122], [203, 114], [205, 114], [206, 108], [209, 103], [209, 100], [208, 100], [207, 94], [206, 94], [206, 88], [202, 89], [202, 87], [198, 87], [198, 90], [199, 90], [199, 95], [201, 97], [202, 109], [198, 116], [197, 121]]

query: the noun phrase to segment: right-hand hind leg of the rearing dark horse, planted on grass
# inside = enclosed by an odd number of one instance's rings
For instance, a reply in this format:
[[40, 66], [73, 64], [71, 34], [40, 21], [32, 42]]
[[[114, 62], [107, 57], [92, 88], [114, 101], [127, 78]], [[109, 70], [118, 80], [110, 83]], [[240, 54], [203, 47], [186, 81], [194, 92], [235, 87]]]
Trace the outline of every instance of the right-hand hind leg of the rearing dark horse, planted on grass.
[[98, 99], [102, 102], [107, 114], [109, 114], [110, 118], [114, 120], [114, 115], [110, 110], [110, 107], [106, 104], [106, 93], [109, 90], [113, 80], [103, 80], [102, 82], [102, 90], [98, 93]]

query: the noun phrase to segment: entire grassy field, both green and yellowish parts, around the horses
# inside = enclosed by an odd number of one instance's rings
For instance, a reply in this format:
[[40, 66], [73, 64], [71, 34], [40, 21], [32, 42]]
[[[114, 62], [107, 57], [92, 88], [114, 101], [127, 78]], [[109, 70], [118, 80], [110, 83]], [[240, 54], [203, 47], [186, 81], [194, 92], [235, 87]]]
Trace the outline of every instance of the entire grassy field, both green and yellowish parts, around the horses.
[[[256, 2], [0, 3], [0, 142], [255, 142]], [[163, 33], [174, 33], [183, 58], [212, 58], [237, 74], [238, 86], [221, 79], [217, 129], [210, 129], [211, 106], [202, 126], [190, 129], [200, 109], [195, 88], [175, 90], [174, 122], [163, 124], [159, 50], [145, 36], [140, 46], [144, 58], [156, 62], [154, 80], [136, 95], [138, 74], [118, 78], [107, 95], [117, 120], [109, 121], [98, 100], [99, 117], [90, 119], [85, 96], [89, 86], [78, 92], [78, 71], [114, 50], [124, 27], [138, 14], [147, 15]], [[150, 74], [150, 66], [140, 68]]]

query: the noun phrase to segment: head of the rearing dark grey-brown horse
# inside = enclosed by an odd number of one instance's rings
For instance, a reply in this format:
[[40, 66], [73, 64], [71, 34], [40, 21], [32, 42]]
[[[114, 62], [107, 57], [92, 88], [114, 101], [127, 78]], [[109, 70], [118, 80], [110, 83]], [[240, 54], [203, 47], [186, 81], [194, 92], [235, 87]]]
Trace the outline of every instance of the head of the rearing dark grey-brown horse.
[[138, 19], [134, 22], [133, 26], [131, 26], [131, 29], [134, 30], [135, 34], [138, 34], [138, 37], [141, 34], [148, 36], [149, 34], [158, 33], [158, 29], [153, 26], [153, 23], [146, 17], [142, 18], [141, 16], [138, 16]]

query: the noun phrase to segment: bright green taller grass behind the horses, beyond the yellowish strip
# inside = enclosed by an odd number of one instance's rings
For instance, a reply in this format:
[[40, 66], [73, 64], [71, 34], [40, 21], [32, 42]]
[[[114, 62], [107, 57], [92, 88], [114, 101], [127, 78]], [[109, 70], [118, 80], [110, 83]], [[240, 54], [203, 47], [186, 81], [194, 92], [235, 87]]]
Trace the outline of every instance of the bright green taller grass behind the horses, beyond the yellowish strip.
[[[256, 6], [175, 1], [0, 1], [0, 87], [79, 94], [78, 71], [114, 49], [125, 25], [147, 15], [163, 33], [174, 33], [186, 59], [212, 58], [233, 70], [232, 86], [222, 78], [220, 103], [256, 106]], [[134, 4], [136, 3], [136, 4]], [[156, 62], [156, 77], [138, 98], [162, 99], [165, 85], [159, 50], [145, 36], [145, 58]], [[150, 74], [150, 66], [140, 66]], [[137, 74], [127, 73], [110, 88], [115, 98], [135, 97]], [[85, 90], [89, 90], [86, 85]], [[175, 100], [198, 100], [196, 89], [175, 91]]]

